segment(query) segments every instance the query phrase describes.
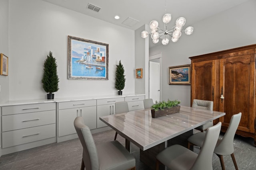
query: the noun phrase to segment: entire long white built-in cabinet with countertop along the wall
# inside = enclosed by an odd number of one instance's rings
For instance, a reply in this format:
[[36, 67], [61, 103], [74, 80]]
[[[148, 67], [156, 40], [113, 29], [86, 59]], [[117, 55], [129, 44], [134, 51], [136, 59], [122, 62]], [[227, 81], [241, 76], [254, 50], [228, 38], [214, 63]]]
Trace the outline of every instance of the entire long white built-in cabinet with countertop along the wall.
[[144, 98], [145, 95], [123, 95], [88, 100], [31, 100], [0, 104], [0, 156], [77, 138], [74, 119], [78, 116], [83, 117], [92, 133], [106, 131], [110, 127], [99, 118], [116, 114], [116, 102], [127, 101], [132, 111], [144, 109]]

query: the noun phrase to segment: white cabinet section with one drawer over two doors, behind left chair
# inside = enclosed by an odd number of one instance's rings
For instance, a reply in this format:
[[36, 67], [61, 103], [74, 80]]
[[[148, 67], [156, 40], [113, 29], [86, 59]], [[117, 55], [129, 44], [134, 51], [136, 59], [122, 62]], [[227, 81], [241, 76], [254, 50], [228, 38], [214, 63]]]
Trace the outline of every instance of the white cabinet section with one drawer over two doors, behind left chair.
[[82, 116], [84, 123], [96, 129], [96, 100], [81, 100], [58, 103], [58, 137], [76, 133], [74, 119]]

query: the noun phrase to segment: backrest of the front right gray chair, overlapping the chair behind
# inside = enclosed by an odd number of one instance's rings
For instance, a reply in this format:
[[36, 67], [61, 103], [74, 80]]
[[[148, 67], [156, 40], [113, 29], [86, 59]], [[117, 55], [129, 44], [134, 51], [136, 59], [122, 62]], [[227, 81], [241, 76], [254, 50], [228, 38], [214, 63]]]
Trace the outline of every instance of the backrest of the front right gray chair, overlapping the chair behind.
[[204, 143], [191, 170], [212, 170], [212, 155], [220, 135], [221, 122], [206, 130]]

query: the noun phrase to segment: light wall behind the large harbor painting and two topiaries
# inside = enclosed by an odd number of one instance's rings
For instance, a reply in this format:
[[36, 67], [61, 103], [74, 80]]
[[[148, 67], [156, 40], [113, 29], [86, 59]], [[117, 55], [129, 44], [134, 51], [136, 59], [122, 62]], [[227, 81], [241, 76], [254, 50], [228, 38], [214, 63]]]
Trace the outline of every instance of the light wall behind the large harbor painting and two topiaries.
[[[109, 80], [68, 80], [68, 35], [109, 44]], [[117, 94], [114, 75], [119, 60], [127, 80], [123, 93], [135, 91], [134, 31], [130, 29], [42, 0], [10, 0], [9, 36], [10, 100], [46, 98], [41, 78], [49, 51], [56, 58], [60, 78], [55, 98]]]

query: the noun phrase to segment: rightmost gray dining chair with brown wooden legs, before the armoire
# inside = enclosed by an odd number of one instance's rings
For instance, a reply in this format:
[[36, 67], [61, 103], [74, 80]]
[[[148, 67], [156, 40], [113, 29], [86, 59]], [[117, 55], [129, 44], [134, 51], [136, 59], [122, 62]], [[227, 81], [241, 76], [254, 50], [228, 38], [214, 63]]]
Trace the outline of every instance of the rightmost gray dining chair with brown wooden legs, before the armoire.
[[[234, 166], [236, 170], [238, 170], [238, 166], [236, 164], [236, 158], [234, 156], [234, 136], [236, 133], [236, 129], [238, 128], [238, 125], [240, 123], [242, 113], [237, 113], [235, 115], [232, 115], [230, 119], [230, 124], [228, 126], [228, 129], [222, 139], [218, 139], [218, 142], [216, 144], [216, 147], [214, 149], [214, 153], [220, 158], [220, 164], [222, 167], [222, 170], [225, 170], [223, 155], [231, 155]], [[191, 145], [197, 145], [199, 147], [202, 147], [204, 143], [204, 139], [206, 138], [205, 133], [196, 133], [188, 138], [188, 148], [190, 148]]]

